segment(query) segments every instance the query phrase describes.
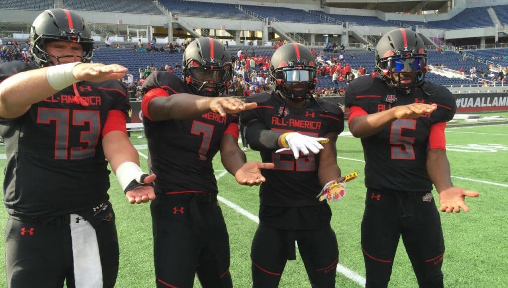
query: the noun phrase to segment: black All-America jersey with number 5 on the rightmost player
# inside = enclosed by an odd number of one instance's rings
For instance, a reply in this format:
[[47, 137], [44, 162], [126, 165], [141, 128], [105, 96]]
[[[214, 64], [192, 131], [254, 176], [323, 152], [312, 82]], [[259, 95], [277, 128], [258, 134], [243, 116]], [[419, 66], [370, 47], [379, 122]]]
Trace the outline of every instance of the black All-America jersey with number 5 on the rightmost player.
[[430, 191], [427, 150], [431, 125], [446, 122], [456, 111], [455, 97], [439, 85], [425, 82], [407, 94], [379, 78], [354, 80], [345, 93], [346, 107], [360, 106], [368, 114], [398, 105], [436, 103], [437, 110], [418, 119], [398, 119], [374, 135], [362, 138], [365, 186], [370, 189]]

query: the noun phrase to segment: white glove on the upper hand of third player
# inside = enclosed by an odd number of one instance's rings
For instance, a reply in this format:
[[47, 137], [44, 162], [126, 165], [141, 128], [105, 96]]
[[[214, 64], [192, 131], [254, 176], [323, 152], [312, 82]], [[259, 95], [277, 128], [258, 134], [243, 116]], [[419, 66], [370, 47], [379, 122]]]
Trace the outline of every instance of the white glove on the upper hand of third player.
[[288, 144], [288, 148], [281, 148], [275, 151], [275, 153], [291, 150], [293, 151], [295, 159], [300, 157], [300, 152], [303, 155], [309, 155], [309, 150], [314, 154], [320, 153], [320, 150], [323, 149], [323, 145], [321, 145], [321, 143], [330, 141], [328, 138], [312, 137], [298, 132], [287, 133], [282, 137], [282, 141]]

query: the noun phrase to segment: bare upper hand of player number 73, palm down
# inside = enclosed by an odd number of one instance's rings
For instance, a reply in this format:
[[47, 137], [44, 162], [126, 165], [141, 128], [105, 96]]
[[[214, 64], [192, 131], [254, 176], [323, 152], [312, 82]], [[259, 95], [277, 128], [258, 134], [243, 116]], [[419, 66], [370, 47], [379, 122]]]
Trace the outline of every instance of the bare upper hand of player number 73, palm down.
[[80, 63], [72, 69], [72, 75], [78, 81], [104, 82], [119, 80], [125, 76], [128, 68], [120, 64]]

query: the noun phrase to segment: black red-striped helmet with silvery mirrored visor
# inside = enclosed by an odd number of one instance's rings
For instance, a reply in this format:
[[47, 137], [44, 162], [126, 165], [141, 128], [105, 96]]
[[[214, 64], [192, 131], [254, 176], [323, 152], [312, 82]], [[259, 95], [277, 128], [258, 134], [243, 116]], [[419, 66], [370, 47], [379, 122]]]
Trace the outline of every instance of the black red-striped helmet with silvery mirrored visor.
[[270, 60], [270, 80], [275, 90], [293, 101], [312, 98], [317, 82], [314, 55], [302, 44], [288, 43], [280, 46]]

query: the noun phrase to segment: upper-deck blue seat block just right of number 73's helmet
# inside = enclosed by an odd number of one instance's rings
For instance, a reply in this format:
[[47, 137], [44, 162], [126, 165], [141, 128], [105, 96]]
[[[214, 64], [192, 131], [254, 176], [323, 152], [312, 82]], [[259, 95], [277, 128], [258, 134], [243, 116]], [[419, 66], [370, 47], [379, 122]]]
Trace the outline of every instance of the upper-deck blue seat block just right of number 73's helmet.
[[164, 15], [151, 1], [142, 0], [63, 0], [72, 10]]

